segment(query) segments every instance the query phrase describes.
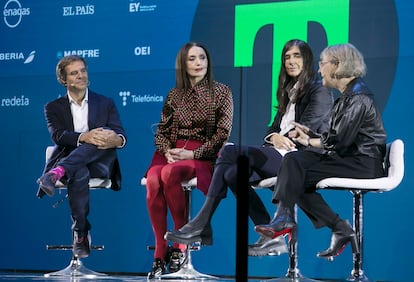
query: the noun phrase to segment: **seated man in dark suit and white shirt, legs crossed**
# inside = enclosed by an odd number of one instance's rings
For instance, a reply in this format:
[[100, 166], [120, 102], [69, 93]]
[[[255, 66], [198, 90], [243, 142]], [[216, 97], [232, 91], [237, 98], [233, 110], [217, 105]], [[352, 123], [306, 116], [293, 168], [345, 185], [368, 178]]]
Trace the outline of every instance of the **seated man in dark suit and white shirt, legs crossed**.
[[111, 188], [121, 189], [121, 172], [116, 154], [126, 135], [112, 99], [88, 89], [84, 58], [63, 57], [56, 66], [58, 81], [67, 95], [45, 106], [47, 127], [56, 144], [38, 179], [37, 196], [53, 196], [58, 180], [68, 187], [72, 215], [73, 254], [89, 255], [89, 179], [110, 178]]

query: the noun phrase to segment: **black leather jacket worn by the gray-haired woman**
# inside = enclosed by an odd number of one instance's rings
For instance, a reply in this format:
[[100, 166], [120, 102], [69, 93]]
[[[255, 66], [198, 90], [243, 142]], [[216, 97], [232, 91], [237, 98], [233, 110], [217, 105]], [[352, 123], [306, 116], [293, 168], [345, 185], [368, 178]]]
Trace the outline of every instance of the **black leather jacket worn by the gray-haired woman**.
[[335, 101], [329, 130], [322, 134], [321, 143], [340, 156], [384, 157], [386, 134], [381, 113], [361, 78], [352, 80]]

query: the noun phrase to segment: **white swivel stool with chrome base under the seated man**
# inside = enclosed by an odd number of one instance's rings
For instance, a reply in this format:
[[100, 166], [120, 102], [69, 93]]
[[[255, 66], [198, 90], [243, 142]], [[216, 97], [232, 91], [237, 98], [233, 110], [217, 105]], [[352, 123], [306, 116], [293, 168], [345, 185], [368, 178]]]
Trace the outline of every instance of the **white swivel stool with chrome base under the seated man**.
[[[50, 158], [53, 152], [53, 146], [48, 146], [46, 148], [46, 161]], [[103, 178], [91, 178], [89, 179], [89, 189], [90, 190], [100, 190], [100, 189], [108, 189], [111, 188], [111, 180], [110, 179], [103, 179]], [[67, 189], [67, 187], [60, 181], [56, 183], [56, 189], [59, 191], [63, 191]], [[56, 208], [60, 203], [62, 203], [68, 194], [66, 193], [65, 197], [56, 202], [53, 207]], [[90, 246], [91, 250], [98, 250], [101, 251], [104, 249], [103, 245], [97, 246]], [[46, 250], [72, 250], [73, 245], [46, 245]], [[56, 278], [96, 278], [96, 277], [103, 277], [107, 276], [104, 273], [95, 272], [93, 270], [88, 269], [82, 263], [82, 261], [72, 255], [72, 259], [69, 265], [59, 271], [50, 272], [44, 274], [44, 277], [56, 277]]]

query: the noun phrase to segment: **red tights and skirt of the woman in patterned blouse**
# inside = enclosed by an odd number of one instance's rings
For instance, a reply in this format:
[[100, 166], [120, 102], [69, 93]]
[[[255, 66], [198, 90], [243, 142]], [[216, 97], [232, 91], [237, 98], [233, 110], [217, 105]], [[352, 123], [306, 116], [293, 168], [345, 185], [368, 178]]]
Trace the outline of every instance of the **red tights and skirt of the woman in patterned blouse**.
[[[186, 149], [193, 150], [201, 145], [201, 142], [185, 142]], [[177, 148], [181, 141], [177, 141]], [[155, 235], [154, 258], [164, 260], [168, 251], [168, 242], [164, 239], [167, 232], [167, 212], [170, 210], [174, 221], [174, 229], [177, 230], [187, 223], [188, 208], [185, 193], [181, 182], [195, 176], [202, 175], [200, 183], [197, 177], [198, 189], [207, 193], [210, 185], [213, 164], [211, 161], [183, 160], [172, 164], [158, 151], [155, 152], [151, 165], [147, 171], [147, 208], [151, 220], [152, 230]], [[178, 244], [174, 248], [184, 248]]]

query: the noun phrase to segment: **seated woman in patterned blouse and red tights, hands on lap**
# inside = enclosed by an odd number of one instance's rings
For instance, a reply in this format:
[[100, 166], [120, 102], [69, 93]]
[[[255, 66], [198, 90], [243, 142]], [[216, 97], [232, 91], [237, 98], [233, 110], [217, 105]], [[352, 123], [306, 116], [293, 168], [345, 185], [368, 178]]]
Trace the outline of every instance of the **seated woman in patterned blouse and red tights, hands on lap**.
[[186, 43], [176, 58], [176, 86], [170, 90], [155, 134], [156, 151], [146, 173], [147, 208], [155, 235], [154, 262], [148, 278], [179, 270], [185, 245], [169, 250], [164, 239], [167, 210], [174, 229], [187, 222], [181, 182], [197, 176], [207, 194], [217, 155], [230, 136], [233, 120], [231, 89], [213, 79], [207, 49]]

